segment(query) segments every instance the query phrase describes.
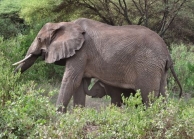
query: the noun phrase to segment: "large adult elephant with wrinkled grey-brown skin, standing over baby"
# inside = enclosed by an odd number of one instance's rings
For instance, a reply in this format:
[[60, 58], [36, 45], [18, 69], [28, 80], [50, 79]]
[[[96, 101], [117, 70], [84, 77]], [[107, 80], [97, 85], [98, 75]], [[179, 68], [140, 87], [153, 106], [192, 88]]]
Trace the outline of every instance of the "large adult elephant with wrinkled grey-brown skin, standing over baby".
[[115, 87], [140, 89], [143, 102], [148, 105], [149, 92], [154, 91], [156, 97], [160, 93], [165, 96], [170, 68], [182, 92], [166, 44], [146, 27], [111, 26], [85, 18], [47, 23], [28, 49], [29, 58], [20, 62], [16, 71], [25, 71], [39, 56], [46, 63], [65, 65], [56, 103], [62, 112], [74, 94], [77, 98], [82, 94], [78, 89], [83, 87], [85, 77]]

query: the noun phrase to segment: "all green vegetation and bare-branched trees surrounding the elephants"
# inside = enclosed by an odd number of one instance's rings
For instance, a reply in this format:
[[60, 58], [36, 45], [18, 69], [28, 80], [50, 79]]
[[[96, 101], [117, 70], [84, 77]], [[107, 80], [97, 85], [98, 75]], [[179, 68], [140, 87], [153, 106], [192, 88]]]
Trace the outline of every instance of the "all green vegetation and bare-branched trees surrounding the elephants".
[[[0, 0], [0, 138], [192, 139], [193, 10], [192, 0]], [[169, 46], [184, 98], [177, 99], [179, 88], [169, 74], [168, 101], [160, 98], [146, 111], [137, 95], [122, 108], [107, 106], [109, 98], [103, 105], [87, 98], [89, 108], [70, 105], [66, 114], [56, 113], [65, 67], [39, 60], [24, 74], [14, 75], [11, 64], [25, 56], [46, 22], [79, 17], [111, 25], [138, 24], [159, 33]]]

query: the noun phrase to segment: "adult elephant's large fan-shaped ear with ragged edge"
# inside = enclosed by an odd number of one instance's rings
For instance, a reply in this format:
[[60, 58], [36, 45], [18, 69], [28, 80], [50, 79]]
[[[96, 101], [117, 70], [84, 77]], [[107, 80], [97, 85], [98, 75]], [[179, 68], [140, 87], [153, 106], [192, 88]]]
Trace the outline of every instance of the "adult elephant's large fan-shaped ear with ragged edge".
[[45, 55], [47, 63], [54, 63], [60, 59], [73, 56], [84, 43], [84, 30], [75, 23], [53, 23], [48, 28], [49, 38]]

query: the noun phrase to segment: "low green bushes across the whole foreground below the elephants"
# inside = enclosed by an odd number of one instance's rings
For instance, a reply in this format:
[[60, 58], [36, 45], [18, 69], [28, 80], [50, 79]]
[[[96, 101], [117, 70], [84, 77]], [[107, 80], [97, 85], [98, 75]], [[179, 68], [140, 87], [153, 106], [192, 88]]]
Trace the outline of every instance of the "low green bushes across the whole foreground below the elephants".
[[75, 108], [60, 114], [48, 97], [41, 95], [42, 90], [31, 89], [1, 109], [0, 137], [192, 139], [194, 136], [194, 100], [168, 98], [164, 103], [160, 98], [145, 110], [138, 93], [126, 99], [127, 106], [122, 108], [111, 105], [101, 110]]

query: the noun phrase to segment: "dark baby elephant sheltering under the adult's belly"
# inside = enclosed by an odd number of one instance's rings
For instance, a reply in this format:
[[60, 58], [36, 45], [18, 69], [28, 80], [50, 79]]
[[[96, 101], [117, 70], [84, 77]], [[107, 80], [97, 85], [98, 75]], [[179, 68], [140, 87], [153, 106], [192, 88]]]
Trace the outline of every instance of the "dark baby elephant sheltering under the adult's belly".
[[105, 95], [111, 97], [111, 104], [120, 107], [123, 103], [122, 95], [128, 98], [130, 95], [135, 95], [136, 91], [133, 89], [124, 89], [104, 84], [97, 81], [90, 90], [88, 90], [88, 82], [84, 80], [84, 91], [87, 95], [93, 98], [102, 98]]

